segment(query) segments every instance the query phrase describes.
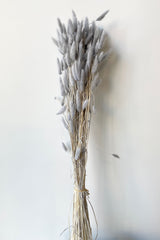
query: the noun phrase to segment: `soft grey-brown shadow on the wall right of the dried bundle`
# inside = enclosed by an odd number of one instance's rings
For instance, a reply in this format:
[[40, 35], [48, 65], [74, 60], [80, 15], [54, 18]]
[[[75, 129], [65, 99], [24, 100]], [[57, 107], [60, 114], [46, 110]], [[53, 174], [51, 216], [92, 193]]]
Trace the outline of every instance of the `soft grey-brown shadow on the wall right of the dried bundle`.
[[[111, 42], [108, 38], [105, 41], [105, 50], [112, 48]], [[117, 231], [117, 215], [113, 210], [112, 193], [109, 184], [107, 183], [106, 176], [106, 148], [108, 146], [108, 139], [106, 139], [106, 132], [111, 131], [110, 125], [113, 119], [114, 111], [110, 104], [110, 95], [113, 89], [113, 77], [115, 69], [119, 62], [119, 56], [116, 51], [112, 48], [112, 54], [109, 57], [107, 64], [106, 61], [101, 66], [100, 76], [102, 78], [101, 85], [95, 92], [96, 99], [96, 114], [93, 116], [92, 134], [93, 145], [96, 146], [98, 151], [94, 151], [94, 176], [96, 181], [96, 198], [98, 202], [98, 208], [101, 219], [98, 219], [99, 225], [106, 224], [106, 228], [99, 226], [99, 239], [109, 240], [108, 233], [110, 236], [115, 236], [114, 232]], [[94, 133], [93, 133], [94, 132]], [[99, 221], [100, 220], [100, 221]], [[105, 229], [104, 229], [105, 228]], [[106, 236], [106, 239], [101, 239], [101, 236]], [[115, 238], [114, 240], [119, 240]], [[112, 239], [111, 239], [112, 240]]]

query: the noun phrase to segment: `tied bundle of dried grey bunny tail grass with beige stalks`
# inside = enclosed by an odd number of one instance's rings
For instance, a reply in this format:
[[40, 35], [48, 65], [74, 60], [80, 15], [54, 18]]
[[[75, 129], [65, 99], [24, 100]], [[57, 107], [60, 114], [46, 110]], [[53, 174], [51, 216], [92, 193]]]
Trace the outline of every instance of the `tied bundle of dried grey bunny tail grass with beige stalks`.
[[[96, 21], [102, 20], [106, 11]], [[105, 32], [89, 23], [88, 18], [79, 21], [74, 11], [67, 26], [58, 19], [57, 40], [53, 42], [62, 54], [57, 59], [61, 97], [62, 122], [70, 136], [70, 143], [62, 143], [65, 151], [71, 151], [74, 172], [73, 219], [71, 240], [92, 240], [88, 213], [89, 191], [85, 186], [87, 145], [94, 111], [94, 90], [100, 83], [99, 65], [109, 56], [103, 52]]]

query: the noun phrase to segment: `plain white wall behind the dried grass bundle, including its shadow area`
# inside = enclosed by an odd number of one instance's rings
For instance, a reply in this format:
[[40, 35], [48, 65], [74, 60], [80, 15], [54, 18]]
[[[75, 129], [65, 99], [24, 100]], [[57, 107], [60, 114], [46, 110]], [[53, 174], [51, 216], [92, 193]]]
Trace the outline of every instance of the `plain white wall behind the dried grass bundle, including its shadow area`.
[[95, 19], [108, 8], [114, 56], [96, 92], [87, 186], [100, 240], [160, 239], [160, 2], [1, 0], [1, 240], [59, 239], [68, 226], [72, 168], [51, 36], [72, 9]]

